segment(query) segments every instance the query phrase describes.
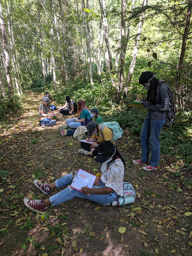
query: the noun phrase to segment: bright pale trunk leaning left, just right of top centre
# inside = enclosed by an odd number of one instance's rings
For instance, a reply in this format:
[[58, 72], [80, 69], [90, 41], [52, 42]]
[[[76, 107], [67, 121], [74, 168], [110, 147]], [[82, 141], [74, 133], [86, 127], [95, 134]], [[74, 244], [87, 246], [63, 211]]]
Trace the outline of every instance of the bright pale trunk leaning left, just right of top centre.
[[108, 60], [109, 60], [109, 68], [110, 68], [110, 70], [112, 70], [112, 68], [113, 68], [112, 53], [111, 53], [110, 44], [109, 44], [109, 40], [108, 40], [105, 1], [104, 0], [99, 0], [99, 3], [100, 3], [100, 11], [101, 11], [101, 16], [102, 16], [104, 40], [105, 40], [105, 45], [106, 45], [106, 48], [107, 48], [107, 54], [108, 54]]

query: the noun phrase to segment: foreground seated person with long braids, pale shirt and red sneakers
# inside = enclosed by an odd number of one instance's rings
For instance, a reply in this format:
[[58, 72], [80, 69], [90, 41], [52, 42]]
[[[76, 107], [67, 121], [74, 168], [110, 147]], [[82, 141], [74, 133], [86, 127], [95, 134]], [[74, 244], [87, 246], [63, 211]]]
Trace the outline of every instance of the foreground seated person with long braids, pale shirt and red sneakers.
[[55, 206], [74, 197], [107, 204], [111, 203], [118, 195], [122, 196], [122, 182], [125, 169], [122, 156], [111, 141], [102, 141], [98, 145], [97, 150], [98, 153], [95, 160], [101, 163], [101, 173], [97, 173], [92, 188], [83, 186], [81, 191], [78, 191], [70, 187], [70, 183], [77, 171], [72, 171], [51, 183], [41, 183], [35, 179], [33, 181], [34, 185], [44, 194], [49, 194], [52, 188], [67, 187], [48, 199], [30, 200], [24, 198], [25, 206], [35, 212], [43, 212], [46, 206]]

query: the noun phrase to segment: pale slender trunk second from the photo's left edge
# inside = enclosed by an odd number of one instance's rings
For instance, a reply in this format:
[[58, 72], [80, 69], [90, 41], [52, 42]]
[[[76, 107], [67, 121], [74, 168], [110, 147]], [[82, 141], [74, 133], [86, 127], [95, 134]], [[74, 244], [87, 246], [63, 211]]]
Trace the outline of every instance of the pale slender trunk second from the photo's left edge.
[[[6, 5], [6, 1], [5, 1]], [[18, 96], [20, 96], [20, 91], [18, 87], [18, 82], [17, 82], [17, 72], [16, 72], [16, 61], [15, 61], [15, 54], [14, 54], [14, 37], [13, 37], [13, 27], [12, 27], [12, 19], [11, 19], [11, 14], [10, 9], [9, 9], [9, 2], [7, 2], [6, 5], [6, 10], [7, 10], [7, 24], [8, 24], [8, 33], [9, 33], [9, 42], [10, 42], [10, 53], [12, 55], [12, 69], [14, 72], [14, 82], [15, 82], [15, 87], [17, 90]]]

